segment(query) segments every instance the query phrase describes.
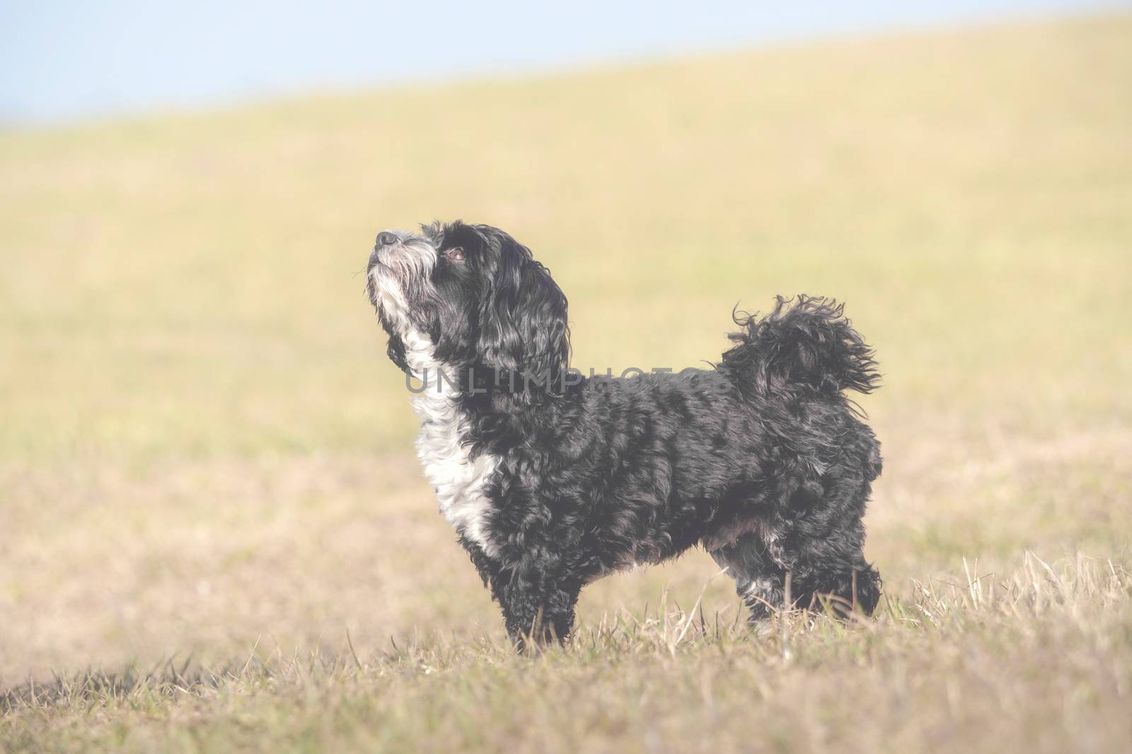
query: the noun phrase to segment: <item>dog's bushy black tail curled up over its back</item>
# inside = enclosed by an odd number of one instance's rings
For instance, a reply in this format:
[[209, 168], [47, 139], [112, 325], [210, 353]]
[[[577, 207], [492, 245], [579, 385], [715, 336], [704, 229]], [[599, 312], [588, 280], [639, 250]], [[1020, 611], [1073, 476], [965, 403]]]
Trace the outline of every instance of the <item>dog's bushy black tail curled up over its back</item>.
[[732, 312], [721, 372], [749, 397], [813, 390], [871, 392], [881, 380], [873, 349], [846, 319], [844, 304], [821, 296], [777, 297], [765, 317]]

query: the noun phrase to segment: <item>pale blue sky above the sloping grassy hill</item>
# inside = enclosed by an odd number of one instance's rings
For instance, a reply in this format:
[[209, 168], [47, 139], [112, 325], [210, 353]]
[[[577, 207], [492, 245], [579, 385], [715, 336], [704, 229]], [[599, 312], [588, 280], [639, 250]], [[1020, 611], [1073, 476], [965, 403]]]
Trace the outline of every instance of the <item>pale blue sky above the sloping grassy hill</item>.
[[0, 0], [0, 123], [1114, 7], [1088, 0]]

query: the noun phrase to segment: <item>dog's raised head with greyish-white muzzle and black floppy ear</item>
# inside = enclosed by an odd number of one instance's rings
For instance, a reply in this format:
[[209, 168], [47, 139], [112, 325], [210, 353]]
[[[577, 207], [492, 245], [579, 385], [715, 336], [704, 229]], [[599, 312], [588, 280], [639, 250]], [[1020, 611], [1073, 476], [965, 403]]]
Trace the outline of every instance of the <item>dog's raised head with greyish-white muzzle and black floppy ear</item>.
[[[414, 372], [411, 352], [447, 366], [551, 379], [569, 362], [566, 296], [531, 251], [503, 231], [461, 222], [383, 231], [369, 257], [369, 298], [389, 336], [389, 358]], [[419, 375], [418, 375], [419, 376]]]

